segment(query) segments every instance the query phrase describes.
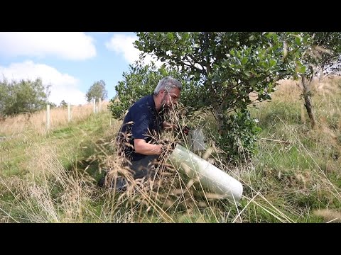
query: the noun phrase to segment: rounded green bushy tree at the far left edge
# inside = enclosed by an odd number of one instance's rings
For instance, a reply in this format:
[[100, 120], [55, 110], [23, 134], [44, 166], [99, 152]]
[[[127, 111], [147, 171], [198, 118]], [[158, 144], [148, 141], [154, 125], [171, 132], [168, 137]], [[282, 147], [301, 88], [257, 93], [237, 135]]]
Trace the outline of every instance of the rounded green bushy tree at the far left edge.
[[33, 113], [45, 108], [50, 86], [44, 86], [41, 79], [0, 82], [0, 114], [17, 115]]

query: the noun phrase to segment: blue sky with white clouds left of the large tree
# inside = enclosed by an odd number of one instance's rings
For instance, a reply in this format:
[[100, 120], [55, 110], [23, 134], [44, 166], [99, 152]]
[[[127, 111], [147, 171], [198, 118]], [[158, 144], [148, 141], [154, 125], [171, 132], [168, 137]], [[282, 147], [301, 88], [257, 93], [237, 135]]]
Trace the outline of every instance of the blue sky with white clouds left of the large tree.
[[133, 32], [0, 32], [0, 81], [40, 77], [51, 85], [48, 100], [59, 106], [87, 103], [87, 91], [103, 80], [110, 100], [123, 72], [139, 60], [137, 39]]

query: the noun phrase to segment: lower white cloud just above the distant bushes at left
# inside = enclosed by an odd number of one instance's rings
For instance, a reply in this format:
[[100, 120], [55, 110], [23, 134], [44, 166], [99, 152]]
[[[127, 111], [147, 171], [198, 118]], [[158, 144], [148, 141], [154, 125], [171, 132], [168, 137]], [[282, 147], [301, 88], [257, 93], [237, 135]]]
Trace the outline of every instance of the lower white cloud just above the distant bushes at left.
[[72, 104], [86, 103], [85, 94], [77, 86], [79, 81], [69, 74], [62, 74], [57, 69], [46, 64], [35, 64], [33, 61], [12, 63], [9, 67], [0, 66], [0, 79], [4, 77], [9, 81], [20, 79], [35, 80], [40, 77], [43, 84], [51, 85], [49, 101], [58, 106], [62, 100]]

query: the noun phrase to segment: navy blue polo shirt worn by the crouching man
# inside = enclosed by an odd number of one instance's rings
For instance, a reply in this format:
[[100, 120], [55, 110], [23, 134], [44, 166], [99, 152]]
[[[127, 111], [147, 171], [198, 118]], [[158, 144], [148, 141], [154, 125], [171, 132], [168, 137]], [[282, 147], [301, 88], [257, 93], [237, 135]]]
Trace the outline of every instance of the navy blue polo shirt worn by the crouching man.
[[144, 154], [135, 152], [134, 139], [144, 139], [146, 142], [155, 142], [152, 136], [158, 136], [162, 130], [163, 115], [158, 114], [155, 108], [153, 94], [144, 96], [136, 101], [124, 117], [119, 139], [121, 148], [129, 157], [129, 160], [136, 161], [146, 157]]

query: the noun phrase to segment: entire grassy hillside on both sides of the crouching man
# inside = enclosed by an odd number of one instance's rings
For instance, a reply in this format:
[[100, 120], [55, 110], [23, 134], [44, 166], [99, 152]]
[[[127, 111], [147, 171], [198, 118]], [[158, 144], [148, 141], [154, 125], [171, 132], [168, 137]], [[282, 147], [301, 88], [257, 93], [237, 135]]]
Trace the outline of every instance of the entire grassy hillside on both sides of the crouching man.
[[71, 123], [66, 110], [53, 109], [48, 131], [45, 113], [5, 120], [0, 222], [339, 222], [340, 84], [314, 86], [318, 130], [310, 130], [299, 87], [281, 81], [271, 102], [250, 108], [262, 132], [249, 164], [228, 166], [213, 147], [215, 164], [243, 183], [239, 205], [200, 190], [176, 169], [134, 183], [139, 192], [97, 187], [102, 167], [124, 172], [112, 140], [121, 123], [105, 107], [98, 114], [79, 108]]

